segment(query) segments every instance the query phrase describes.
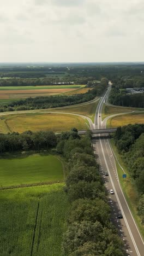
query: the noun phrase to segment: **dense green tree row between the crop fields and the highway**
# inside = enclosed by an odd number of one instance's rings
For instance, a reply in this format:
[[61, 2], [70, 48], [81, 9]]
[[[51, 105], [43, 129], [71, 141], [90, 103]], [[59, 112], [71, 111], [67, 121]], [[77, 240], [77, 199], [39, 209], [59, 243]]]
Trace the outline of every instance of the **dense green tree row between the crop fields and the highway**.
[[68, 162], [65, 193], [71, 203], [63, 255], [125, 255], [122, 239], [110, 222], [110, 207], [91, 145], [91, 131], [76, 129], [58, 138], [57, 152]]

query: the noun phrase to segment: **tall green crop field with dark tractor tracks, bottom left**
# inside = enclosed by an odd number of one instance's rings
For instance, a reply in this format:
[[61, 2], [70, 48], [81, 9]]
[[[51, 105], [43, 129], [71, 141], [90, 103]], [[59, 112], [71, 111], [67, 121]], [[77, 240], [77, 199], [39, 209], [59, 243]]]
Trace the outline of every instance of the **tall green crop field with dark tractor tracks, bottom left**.
[[69, 203], [63, 184], [0, 191], [0, 255], [61, 256]]

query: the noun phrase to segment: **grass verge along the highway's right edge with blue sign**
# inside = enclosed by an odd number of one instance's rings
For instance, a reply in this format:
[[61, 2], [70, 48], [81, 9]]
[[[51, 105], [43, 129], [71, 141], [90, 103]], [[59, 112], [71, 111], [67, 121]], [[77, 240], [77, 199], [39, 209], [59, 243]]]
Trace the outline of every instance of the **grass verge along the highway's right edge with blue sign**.
[[[141, 224], [141, 220], [140, 220], [139, 216], [137, 216], [136, 208], [138, 205], [138, 194], [137, 194], [135, 184], [133, 182], [133, 179], [131, 179], [131, 177], [130, 177], [130, 174], [122, 160], [121, 155], [118, 153], [118, 150], [115, 146], [113, 138], [110, 139], [110, 143], [111, 143], [111, 147], [112, 147], [113, 151], [115, 152], [115, 155], [117, 158], [117, 159], [115, 158], [115, 161], [116, 161], [119, 183], [121, 184], [121, 187], [122, 187], [125, 199], [128, 202], [130, 211], [133, 214], [133, 217], [136, 220], [137, 226], [144, 238], [144, 225]], [[125, 173], [127, 174], [127, 178], [125, 178], [125, 179], [123, 179], [123, 177], [122, 177], [124, 172], [123, 172], [122, 168], [119, 166], [117, 160], [119, 161], [119, 163], [123, 167]]]

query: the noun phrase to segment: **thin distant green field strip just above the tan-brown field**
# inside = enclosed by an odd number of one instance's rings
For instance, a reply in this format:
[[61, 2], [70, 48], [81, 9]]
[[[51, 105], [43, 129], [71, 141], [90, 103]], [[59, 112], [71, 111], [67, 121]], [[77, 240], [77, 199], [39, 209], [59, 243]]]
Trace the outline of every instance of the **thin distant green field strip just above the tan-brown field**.
[[43, 90], [43, 89], [73, 89], [83, 88], [85, 85], [71, 84], [71, 85], [41, 85], [41, 86], [0, 86], [1, 91], [7, 90]]

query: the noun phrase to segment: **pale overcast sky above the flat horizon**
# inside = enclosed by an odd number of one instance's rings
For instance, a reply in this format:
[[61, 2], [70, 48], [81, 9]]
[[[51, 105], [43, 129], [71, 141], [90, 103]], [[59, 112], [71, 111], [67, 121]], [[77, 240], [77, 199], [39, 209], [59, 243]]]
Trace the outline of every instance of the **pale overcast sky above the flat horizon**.
[[0, 4], [0, 62], [144, 61], [143, 0]]

